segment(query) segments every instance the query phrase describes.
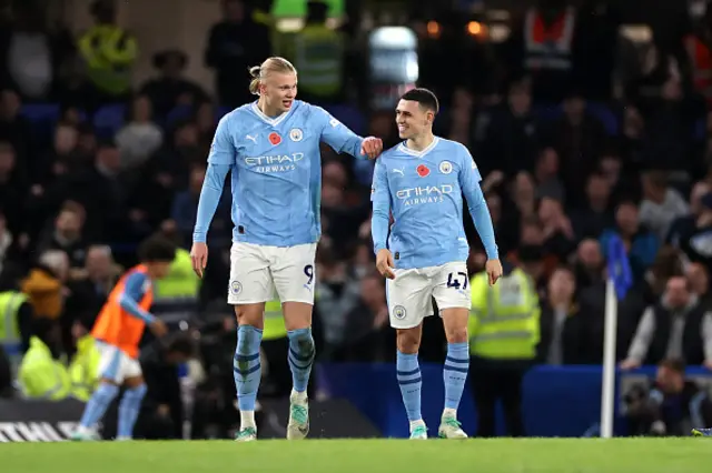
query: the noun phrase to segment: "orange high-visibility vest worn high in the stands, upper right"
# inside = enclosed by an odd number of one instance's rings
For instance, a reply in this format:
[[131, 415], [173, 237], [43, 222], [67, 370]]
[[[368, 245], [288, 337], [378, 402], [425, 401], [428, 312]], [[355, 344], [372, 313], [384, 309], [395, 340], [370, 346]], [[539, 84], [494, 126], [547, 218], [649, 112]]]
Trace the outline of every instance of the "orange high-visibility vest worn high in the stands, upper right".
[[576, 14], [566, 8], [552, 24], [544, 23], [536, 8], [531, 8], [524, 22], [524, 66], [530, 71], [570, 70]]

